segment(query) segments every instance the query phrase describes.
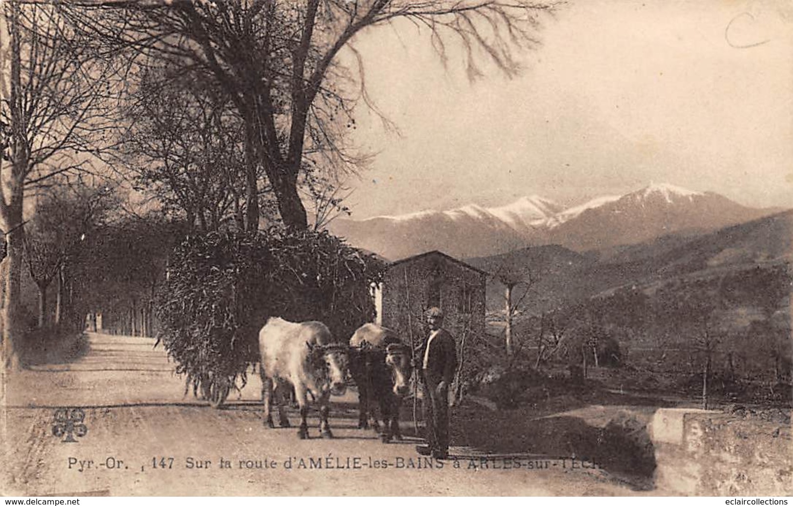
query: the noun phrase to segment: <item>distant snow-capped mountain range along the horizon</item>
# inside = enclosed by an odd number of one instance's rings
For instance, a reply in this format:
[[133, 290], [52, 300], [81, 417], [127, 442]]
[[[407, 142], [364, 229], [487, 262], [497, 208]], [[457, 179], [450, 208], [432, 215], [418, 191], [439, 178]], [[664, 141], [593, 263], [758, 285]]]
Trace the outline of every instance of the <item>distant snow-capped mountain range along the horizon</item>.
[[587, 251], [638, 243], [672, 232], [707, 232], [768, 215], [711, 192], [650, 184], [569, 209], [537, 195], [500, 207], [469, 204], [366, 220], [334, 220], [331, 232], [388, 259], [440, 250], [459, 258], [561, 244]]

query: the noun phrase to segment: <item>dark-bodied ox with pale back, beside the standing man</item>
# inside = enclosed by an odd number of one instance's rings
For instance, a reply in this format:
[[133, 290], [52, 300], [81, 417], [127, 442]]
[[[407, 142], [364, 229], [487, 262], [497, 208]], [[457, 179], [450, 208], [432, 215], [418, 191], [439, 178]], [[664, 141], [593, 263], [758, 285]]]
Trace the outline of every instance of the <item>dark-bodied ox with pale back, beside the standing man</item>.
[[[411, 352], [397, 334], [377, 324], [364, 324], [350, 339], [350, 372], [358, 385], [358, 428], [367, 428], [370, 419], [383, 443], [402, 439], [399, 409], [410, 390]], [[383, 427], [377, 423], [379, 405]]]

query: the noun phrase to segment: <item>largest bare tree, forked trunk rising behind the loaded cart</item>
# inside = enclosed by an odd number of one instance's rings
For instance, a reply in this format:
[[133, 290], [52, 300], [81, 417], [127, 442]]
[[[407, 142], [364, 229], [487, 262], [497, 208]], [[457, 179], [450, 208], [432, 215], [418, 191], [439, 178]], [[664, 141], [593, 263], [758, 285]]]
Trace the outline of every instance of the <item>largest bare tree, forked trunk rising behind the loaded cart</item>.
[[[259, 226], [257, 167], [266, 173], [283, 223], [297, 229], [308, 228], [299, 192], [306, 169], [321, 164], [335, 175], [355, 170], [358, 158], [342, 140], [354, 128], [355, 103], [370, 103], [363, 62], [351, 45], [363, 30], [404, 20], [427, 29], [441, 59], [456, 39], [469, 75], [481, 74], [477, 54], [514, 75], [515, 47], [537, 44], [538, 17], [552, 7], [525, 0], [82, 4], [101, 6], [110, 18], [98, 23], [94, 10], [72, 10], [88, 33], [200, 75], [235, 105], [245, 128], [248, 229]], [[343, 48], [357, 57], [357, 69], [339, 63]]]

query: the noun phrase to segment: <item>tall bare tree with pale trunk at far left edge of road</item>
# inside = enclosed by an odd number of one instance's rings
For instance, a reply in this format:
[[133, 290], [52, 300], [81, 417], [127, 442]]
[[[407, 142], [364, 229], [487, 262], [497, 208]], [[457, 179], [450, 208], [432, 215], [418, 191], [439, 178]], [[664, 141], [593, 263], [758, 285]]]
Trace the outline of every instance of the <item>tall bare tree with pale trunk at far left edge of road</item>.
[[8, 242], [2, 360], [17, 369], [25, 191], [86, 171], [94, 141], [111, 128], [104, 100], [109, 66], [57, 6], [3, 2], [0, 9], [0, 219]]

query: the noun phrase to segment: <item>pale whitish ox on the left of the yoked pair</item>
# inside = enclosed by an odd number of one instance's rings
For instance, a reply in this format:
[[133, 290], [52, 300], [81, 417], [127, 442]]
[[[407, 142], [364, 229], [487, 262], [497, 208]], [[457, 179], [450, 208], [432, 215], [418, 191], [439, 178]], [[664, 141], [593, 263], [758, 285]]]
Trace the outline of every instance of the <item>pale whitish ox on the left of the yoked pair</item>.
[[[274, 427], [270, 404], [284, 397], [294, 387], [300, 407], [301, 426], [297, 435], [308, 438], [308, 396], [310, 392], [320, 403], [320, 431], [331, 438], [328, 424], [328, 402], [332, 395], [343, 395], [347, 390], [347, 344], [334, 343], [331, 331], [319, 321], [295, 324], [282, 318], [270, 318], [259, 331], [259, 351], [262, 355], [262, 401], [265, 424]], [[275, 394], [275, 396], [274, 396]], [[289, 427], [284, 415], [283, 399], [278, 404], [278, 421]]]

